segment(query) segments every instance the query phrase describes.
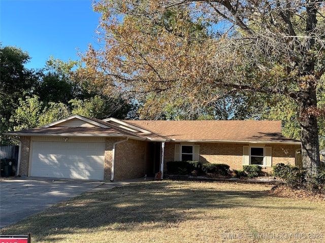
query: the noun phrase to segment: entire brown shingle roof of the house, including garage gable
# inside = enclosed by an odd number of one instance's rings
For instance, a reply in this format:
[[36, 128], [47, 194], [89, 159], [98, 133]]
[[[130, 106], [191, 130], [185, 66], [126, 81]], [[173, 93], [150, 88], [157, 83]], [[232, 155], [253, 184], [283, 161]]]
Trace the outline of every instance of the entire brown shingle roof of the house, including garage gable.
[[[18, 136], [128, 136], [140, 140], [300, 143], [281, 134], [281, 121], [274, 120], [99, 120], [78, 116], [84, 121], [104, 125], [66, 127], [63, 119], [53, 125], [22, 130], [7, 135]], [[76, 118], [76, 116], [72, 116]], [[121, 124], [122, 123], [122, 124]], [[62, 124], [62, 126], [60, 126]], [[127, 126], [130, 126], [127, 129]], [[141, 130], [142, 129], [142, 130]], [[146, 133], [144, 130], [148, 131]]]

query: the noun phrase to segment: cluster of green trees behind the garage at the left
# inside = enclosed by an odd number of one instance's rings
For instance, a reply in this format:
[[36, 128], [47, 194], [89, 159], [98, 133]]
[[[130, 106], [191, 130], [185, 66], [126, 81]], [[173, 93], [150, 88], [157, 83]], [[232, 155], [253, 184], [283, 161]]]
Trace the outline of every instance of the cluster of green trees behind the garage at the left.
[[5, 132], [40, 127], [71, 114], [95, 118], [126, 118], [136, 106], [110, 89], [103, 75], [79, 61], [50, 57], [37, 71], [24, 65], [30, 57], [16, 47], [0, 46], [0, 141], [12, 143]]

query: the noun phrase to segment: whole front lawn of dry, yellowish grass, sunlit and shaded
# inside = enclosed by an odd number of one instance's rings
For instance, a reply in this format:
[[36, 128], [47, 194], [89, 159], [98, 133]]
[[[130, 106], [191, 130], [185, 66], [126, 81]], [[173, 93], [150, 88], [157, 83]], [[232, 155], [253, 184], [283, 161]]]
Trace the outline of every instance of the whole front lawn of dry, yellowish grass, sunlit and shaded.
[[33, 243], [297, 242], [308, 234], [323, 242], [325, 204], [269, 196], [271, 188], [147, 181], [81, 194], [1, 233], [31, 232]]

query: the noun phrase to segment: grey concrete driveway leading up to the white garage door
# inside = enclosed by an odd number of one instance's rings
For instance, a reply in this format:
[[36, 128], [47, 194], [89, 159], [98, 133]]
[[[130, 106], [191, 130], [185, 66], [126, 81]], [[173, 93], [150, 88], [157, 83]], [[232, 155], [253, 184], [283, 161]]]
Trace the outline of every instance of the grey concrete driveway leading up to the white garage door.
[[120, 182], [36, 177], [1, 180], [0, 229], [83, 192], [107, 190], [137, 181], [140, 178]]

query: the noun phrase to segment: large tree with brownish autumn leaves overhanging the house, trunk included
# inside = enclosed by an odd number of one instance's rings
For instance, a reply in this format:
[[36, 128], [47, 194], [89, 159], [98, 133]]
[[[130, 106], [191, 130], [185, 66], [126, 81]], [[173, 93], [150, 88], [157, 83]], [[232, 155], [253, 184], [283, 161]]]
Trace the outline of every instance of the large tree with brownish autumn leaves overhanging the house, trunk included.
[[288, 97], [299, 111], [307, 178], [318, 173], [323, 1], [103, 0], [94, 10], [103, 48], [89, 45], [87, 67], [137, 97], [186, 97], [193, 111], [241, 91]]

